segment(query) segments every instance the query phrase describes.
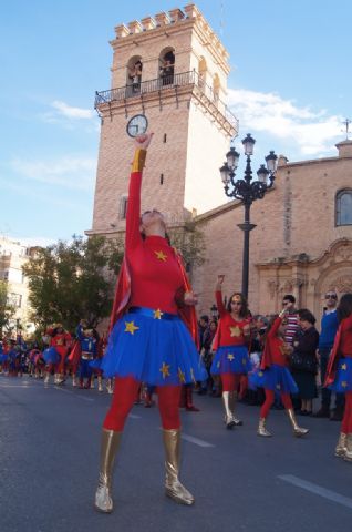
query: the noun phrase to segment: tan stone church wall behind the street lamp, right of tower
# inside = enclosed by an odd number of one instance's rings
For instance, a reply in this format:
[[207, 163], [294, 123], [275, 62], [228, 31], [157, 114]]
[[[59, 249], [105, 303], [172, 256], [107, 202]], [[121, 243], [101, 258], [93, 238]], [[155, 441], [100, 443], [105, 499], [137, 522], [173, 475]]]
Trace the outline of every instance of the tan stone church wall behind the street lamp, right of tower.
[[[351, 188], [352, 141], [338, 144], [339, 156], [281, 165], [275, 188], [252, 204], [249, 304], [255, 313], [279, 310], [283, 293], [319, 317], [327, 289], [352, 291], [352, 226], [335, 226], [335, 195]], [[343, 149], [343, 150], [342, 150]], [[214, 303], [217, 274], [224, 294], [241, 286], [244, 207], [232, 202], [196, 218], [204, 228], [207, 262], [194, 272], [200, 313]]]

